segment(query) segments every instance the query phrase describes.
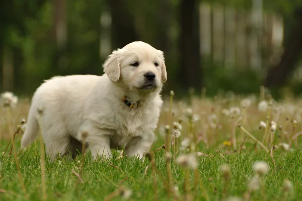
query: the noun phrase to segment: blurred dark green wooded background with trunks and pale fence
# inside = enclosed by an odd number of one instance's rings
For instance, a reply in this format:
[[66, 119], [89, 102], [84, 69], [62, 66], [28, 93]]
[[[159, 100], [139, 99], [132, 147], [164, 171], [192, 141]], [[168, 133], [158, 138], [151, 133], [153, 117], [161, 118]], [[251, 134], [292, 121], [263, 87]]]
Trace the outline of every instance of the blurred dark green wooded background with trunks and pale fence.
[[0, 19], [1, 91], [101, 75], [112, 50], [136, 40], [165, 52], [166, 94], [302, 91], [301, 0], [5, 0]]

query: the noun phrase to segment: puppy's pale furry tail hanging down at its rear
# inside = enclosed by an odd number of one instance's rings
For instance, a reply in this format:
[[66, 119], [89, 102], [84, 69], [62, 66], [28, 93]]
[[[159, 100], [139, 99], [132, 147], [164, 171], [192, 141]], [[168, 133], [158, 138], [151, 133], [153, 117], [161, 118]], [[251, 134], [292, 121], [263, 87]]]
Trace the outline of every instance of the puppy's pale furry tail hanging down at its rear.
[[39, 134], [39, 124], [36, 118], [36, 114], [37, 114], [37, 109], [36, 107], [32, 106], [29, 110], [25, 132], [22, 137], [21, 149], [24, 149], [28, 145], [33, 143]]

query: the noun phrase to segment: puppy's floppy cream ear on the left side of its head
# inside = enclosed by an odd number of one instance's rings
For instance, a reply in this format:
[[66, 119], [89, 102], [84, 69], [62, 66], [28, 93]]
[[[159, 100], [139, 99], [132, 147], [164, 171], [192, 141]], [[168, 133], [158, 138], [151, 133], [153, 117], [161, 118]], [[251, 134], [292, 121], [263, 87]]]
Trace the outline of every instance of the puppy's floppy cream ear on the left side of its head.
[[121, 68], [119, 62], [120, 52], [120, 49], [114, 50], [103, 64], [104, 72], [107, 74], [111, 81], [118, 81], [121, 76]]

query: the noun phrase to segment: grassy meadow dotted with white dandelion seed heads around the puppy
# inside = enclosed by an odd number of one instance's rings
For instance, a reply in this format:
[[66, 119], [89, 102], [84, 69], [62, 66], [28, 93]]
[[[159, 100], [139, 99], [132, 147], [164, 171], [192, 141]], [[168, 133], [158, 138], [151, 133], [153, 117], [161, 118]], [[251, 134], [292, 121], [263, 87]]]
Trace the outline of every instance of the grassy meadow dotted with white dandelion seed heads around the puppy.
[[301, 199], [301, 99], [275, 100], [264, 87], [164, 99], [144, 158], [116, 150], [108, 160], [87, 152], [51, 162], [41, 138], [20, 150], [30, 98], [3, 93], [0, 200]]

